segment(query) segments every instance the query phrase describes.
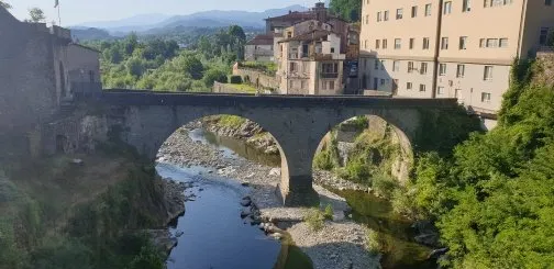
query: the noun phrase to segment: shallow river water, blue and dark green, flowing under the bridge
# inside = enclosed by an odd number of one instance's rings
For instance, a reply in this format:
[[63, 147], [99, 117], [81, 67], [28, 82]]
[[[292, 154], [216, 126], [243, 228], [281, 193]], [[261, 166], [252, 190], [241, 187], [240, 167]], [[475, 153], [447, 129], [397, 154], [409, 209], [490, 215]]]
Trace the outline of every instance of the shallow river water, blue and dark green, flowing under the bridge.
[[[277, 167], [279, 156], [268, 156], [243, 141], [219, 137], [203, 130], [193, 130], [189, 137], [210, 144], [226, 156], [241, 156], [248, 160]], [[241, 218], [241, 199], [247, 188], [237, 181], [210, 175], [208, 167], [178, 167], [158, 164], [158, 173], [181, 182], [192, 182], [186, 191], [195, 194], [186, 203], [186, 213], [179, 217], [171, 233], [180, 235], [173, 249], [169, 269], [310, 269], [310, 259], [291, 244], [273, 239]], [[209, 177], [202, 176], [209, 175]], [[436, 268], [425, 261], [431, 249], [413, 243], [410, 223], [392, 213], [390, 203], [365, 192], [336, 191], [353, 208], [353, 220], [378, 231], [386, 242], [387, 255], [381, 265], [392, 268]], [[182, 235], [181, 235], [182, 234]], [[288, 240], [285, 240], [288, 242]]]

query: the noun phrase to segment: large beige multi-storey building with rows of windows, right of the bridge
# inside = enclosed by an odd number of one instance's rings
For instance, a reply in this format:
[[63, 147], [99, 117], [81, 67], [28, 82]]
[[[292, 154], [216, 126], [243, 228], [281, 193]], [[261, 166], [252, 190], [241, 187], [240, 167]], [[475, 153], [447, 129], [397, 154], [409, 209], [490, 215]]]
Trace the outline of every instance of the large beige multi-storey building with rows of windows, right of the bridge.
[[361, 83], [413, 98], [457, 98], [495, 125], [516, 57], [554, 31], [552, 0], [362, 0]]

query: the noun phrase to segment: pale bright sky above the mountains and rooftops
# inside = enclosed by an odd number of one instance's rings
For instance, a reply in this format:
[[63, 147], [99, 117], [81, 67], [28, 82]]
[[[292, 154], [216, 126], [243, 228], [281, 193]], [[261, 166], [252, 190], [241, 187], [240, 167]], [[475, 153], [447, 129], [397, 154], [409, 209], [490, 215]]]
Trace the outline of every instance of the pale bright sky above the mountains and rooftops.
[[[29, 18], [30, 8], [41, 8], [46, 21], [57, 21], [55, 0], [2, 0], [18, 19]], [[137, 14], [190, 14], [207, 10], [263, 11], [292, 4], [312, 7], [318, 0], [59, 0], [62, 25], [70, 26], [90, 21], [112, 21]]]

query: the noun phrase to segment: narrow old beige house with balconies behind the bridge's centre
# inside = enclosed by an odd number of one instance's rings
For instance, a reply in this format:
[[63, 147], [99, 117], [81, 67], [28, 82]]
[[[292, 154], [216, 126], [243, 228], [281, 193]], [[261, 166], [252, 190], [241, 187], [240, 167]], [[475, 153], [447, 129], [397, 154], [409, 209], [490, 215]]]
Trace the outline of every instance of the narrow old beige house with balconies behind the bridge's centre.
[[[311, 25], [304, 30], [306, 25]], [[307, 21], [284, 30], [277, 40], [277, 79], [281, 94], [342, 94], [341, 35], [331, 26]]]

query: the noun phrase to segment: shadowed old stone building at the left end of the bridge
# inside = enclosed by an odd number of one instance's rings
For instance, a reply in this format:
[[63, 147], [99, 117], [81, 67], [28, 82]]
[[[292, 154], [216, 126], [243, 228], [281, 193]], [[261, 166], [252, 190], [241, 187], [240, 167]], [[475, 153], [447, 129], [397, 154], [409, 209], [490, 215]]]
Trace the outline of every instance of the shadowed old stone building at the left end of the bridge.
[[[93, 81], [101, 90], [98, 52], [71, 43], [70, 31], [16, 20], [0, 7], [0, 141], [2, 150], [30, 148], [43, 124], [71, 100], [71, 82]], [[13, 143], [19, 141], [21, 143]]]

